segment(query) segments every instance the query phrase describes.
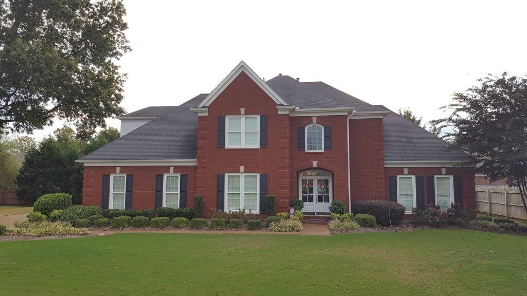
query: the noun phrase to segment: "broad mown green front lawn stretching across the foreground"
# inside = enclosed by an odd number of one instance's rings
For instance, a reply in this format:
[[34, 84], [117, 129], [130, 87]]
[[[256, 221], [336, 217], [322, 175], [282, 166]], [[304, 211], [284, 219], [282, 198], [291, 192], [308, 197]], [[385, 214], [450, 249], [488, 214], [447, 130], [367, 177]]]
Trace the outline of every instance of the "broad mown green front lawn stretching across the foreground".
[[527, 238], [114, 234], [0, 242], [0, 295], [526, 295]]

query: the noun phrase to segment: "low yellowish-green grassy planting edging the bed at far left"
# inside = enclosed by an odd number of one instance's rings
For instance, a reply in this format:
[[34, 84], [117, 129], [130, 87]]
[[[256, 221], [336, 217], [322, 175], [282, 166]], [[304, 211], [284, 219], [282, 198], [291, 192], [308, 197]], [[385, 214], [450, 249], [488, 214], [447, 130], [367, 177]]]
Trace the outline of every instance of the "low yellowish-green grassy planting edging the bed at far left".
[[24, 227], [9, 229], [8, 232], [29, 236], [88, 234], [85, 228], [74, 228], [70, 223], [66, 222], [44, 221], [42, 223], [23, 223], [19, 225]]

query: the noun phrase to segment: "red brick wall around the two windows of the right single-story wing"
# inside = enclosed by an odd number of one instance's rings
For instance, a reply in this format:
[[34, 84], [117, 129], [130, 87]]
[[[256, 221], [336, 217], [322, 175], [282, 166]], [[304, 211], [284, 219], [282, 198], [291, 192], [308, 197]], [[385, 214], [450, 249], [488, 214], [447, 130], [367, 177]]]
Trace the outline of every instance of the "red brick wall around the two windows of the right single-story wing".
[[[426, 198], [426, 176], [441, 175], [441, 167], [408, 167], [408, 175], [425, 176], [425, 205], [428, 204]], [[446, 175], [461, 175], [463, 182], [463, 208], [475, 211], [476, 209], [476, 189], [474, 185], [474, 170], [460, 167], [446, 167]], [[389, 176], [404, 175], [403, 167], [386, 167], [385, 190], [386, 199], [389, 199]]]

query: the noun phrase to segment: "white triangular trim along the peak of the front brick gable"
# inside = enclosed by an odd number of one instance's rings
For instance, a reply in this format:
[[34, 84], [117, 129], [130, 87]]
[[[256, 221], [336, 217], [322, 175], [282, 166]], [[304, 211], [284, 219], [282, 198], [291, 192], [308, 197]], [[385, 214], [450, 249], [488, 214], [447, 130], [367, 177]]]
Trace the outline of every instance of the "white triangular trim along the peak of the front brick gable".
[[220, 84], [218, 84], [218, 86], [216, 86], [216, 88], [214, 88], [214, 90], [212, 90], [212, 92], [210, 92], [210, 94], [204, 98], [203, 101], [201, 101], [197, 108], [203, 108], [210, 105], [210, 103], [212, 103], [214, 99], [216, 99], [216, 97], [218, 97], [218, 95], [221, 94], [221, 92], [223, 92], [223, 90], [225, 90], [225, 88], [227, 88], [227, 86], [229, 86], [229, 84], [235, 80], [235, 78], [238, 77], [241, 72], [245, 72], [245, 74], [247, 74], [247, 76], [249, 76], [252, 81], [254, 81], [264, 92], [266, 92], [267, 95], [269, 95], [272, 100], [275, 101], [275, 103], [278, 105], [289, 105], [284, 100], [282, 100], [282, 98], [274, 90], [272, 90], [272, 88], [269, 87], [269, 85], [267, 85], [264, 80], [262, 80], [262, 78], [260, 78], [260, 76], [258, 76], [255, 71], [253, 71], [251, 67], [247, 65], [246, 62], [240, 61], [240, 63], [238, 63], [238, 65], [232, 69], [227, 77], [225, 77], [220, 82]]

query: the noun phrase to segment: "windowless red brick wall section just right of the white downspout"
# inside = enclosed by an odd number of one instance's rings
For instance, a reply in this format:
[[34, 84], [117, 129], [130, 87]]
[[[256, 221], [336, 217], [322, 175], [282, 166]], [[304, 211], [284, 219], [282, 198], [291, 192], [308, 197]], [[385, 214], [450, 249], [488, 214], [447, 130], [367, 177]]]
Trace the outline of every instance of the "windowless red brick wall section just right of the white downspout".
[[383, 120], [349, 120], [352, 204], [387, 199], [384, 186]]

